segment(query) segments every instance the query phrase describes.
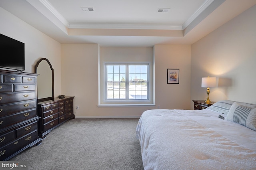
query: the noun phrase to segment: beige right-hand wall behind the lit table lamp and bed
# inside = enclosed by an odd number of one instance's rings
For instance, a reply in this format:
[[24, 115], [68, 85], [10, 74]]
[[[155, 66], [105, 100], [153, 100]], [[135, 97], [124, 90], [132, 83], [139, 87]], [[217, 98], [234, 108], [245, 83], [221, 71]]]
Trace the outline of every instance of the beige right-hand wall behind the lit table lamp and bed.
[[[256, 6], [191, 45], [191, 100], [206, 99], [201, 77], [218, 77], [210, 100], [256, 103]], [[191, 103], [192, 107], [192, 103]]]

